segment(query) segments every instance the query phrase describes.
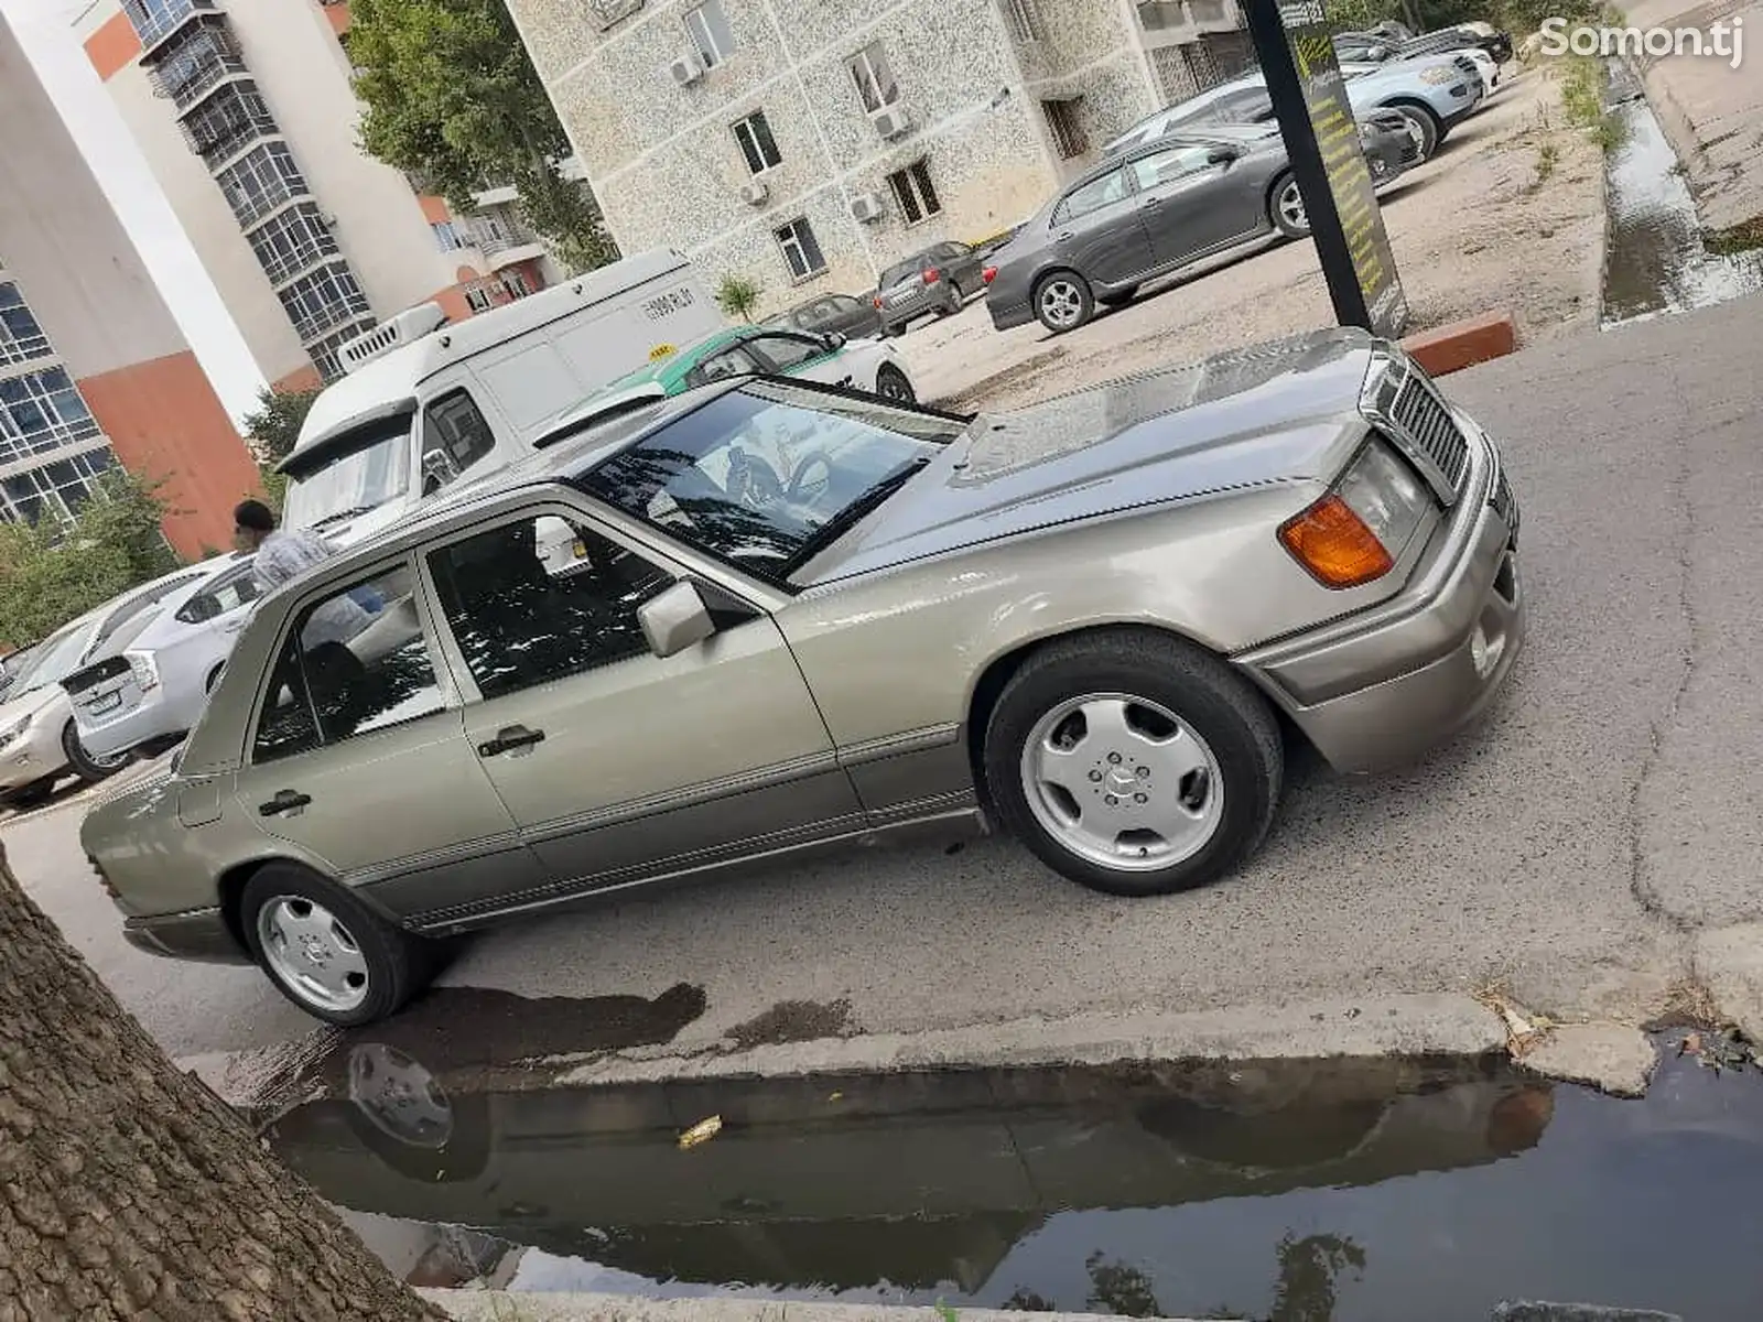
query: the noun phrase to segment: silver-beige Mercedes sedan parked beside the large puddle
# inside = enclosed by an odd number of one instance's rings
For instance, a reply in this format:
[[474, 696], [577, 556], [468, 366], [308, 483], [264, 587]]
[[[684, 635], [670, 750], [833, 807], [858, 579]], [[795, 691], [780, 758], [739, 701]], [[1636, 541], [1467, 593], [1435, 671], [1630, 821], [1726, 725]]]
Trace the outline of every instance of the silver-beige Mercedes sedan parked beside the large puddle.
[[1516, 529], [1493, 442], [1359, 331], [973, 420], [719, 382], [266, 596], [176, 769], [81, 841], [132, 943], [338, 1024], [427, 938], [982, 814], [1181, 890], [1266, 836], [1282, 716], [1366, 770], [1483, 710]]

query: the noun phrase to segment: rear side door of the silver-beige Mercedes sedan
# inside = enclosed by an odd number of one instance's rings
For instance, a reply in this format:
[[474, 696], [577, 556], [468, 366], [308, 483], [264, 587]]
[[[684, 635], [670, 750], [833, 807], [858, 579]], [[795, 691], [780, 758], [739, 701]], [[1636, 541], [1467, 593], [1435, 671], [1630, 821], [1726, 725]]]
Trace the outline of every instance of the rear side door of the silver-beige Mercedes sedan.
[[397, 915], [539, 885], [465, 740], [409, 561], [289, 619], [233, 793], [245, 820]]

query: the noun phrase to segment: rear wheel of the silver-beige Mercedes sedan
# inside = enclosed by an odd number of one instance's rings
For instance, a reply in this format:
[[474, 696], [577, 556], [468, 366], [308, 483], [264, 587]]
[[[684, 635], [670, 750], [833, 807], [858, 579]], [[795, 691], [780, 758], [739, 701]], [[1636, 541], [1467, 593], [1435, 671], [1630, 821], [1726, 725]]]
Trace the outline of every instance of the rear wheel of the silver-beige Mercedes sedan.
[[266, 864], [245, 883], [240, 927], [282, 996], [342, 1028], [397, 1014], [435, 964], [427, 941], [300, 864]]

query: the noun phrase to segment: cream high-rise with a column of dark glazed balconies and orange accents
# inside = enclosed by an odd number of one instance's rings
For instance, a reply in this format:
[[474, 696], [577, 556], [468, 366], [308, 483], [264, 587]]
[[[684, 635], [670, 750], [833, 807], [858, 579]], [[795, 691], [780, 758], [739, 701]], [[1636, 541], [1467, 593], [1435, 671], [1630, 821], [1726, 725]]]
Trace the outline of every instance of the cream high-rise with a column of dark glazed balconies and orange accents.
[[557, 277], [511, 190], [453, 215], [360, 150], [347, 4], [95, 0], [76, 30], [279, 390], [409, 307], [460, 319]]

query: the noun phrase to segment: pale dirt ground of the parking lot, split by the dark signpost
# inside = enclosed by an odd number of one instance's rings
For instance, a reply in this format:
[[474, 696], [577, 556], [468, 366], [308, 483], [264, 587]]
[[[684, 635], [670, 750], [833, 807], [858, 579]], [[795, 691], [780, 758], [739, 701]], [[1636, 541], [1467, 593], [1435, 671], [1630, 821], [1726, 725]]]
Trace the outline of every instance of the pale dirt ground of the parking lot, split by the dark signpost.
[[[1560, 83], [1507, 65], [1484, 109], [1384, 194], [1384, 226], [1419, 331], [1511, 310], [1521, 342], [1596, 321], [1603, 164], [1567, 125]], [[1315, 247], [1264, 243], [1148, 286], [1079, 331], [996, 331], [984, 300], [919, 323], [899, 351], [926, 400], [1008, 409], [1132, 372], [1333, 324]]]

